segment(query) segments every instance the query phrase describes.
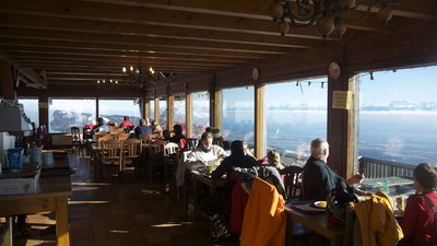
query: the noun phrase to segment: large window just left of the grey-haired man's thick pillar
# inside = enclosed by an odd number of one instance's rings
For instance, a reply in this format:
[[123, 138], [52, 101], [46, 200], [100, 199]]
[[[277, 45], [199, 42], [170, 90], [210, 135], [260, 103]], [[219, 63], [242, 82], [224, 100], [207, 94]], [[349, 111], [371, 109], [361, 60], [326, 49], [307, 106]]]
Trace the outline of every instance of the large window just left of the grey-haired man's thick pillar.
[[327, 79], [264, 86], [267, 148], [309, 156], [316, 138], [327, 138]]

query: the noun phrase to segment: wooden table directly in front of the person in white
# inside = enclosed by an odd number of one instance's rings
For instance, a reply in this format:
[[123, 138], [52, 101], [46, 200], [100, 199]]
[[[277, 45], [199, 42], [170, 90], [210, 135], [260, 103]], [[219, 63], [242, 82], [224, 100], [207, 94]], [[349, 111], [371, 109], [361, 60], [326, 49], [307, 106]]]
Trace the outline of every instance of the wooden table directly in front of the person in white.
[[198, 212], [199, 207], [199, 183], [210, 187], [210, 196], [215, 194], [216, 188], [225, 187], [227, 180], [225, 178], [212, 179], [210, 176], [204, 175], [198, 171], [191, 171], [192, 173], [192, 196], [193, 196], [193, 210]]

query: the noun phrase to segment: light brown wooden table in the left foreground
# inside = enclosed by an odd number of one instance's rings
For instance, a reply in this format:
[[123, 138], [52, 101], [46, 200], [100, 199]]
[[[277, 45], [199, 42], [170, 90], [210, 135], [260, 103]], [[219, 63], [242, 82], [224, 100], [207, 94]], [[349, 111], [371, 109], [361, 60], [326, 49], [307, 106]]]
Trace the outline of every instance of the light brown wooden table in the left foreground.
[[70, 175], [43, 176], [39, 178], [39, 191], [36, 194], [0, 196], [0, 216], [55, 211], [58, 245], [69, 246], [70, 192]]

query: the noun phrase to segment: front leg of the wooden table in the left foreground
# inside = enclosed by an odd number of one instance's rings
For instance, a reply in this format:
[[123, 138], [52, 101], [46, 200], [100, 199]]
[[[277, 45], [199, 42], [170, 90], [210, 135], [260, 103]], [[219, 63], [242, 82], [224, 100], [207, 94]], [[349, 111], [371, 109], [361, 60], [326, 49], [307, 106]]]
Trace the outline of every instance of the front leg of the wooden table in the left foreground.
[[58, 236], [58, 246], [70, 245], [69, 234], [69, 213], [68, 213], [68, 197], [60, 196], [56, 199], [56, 229]]

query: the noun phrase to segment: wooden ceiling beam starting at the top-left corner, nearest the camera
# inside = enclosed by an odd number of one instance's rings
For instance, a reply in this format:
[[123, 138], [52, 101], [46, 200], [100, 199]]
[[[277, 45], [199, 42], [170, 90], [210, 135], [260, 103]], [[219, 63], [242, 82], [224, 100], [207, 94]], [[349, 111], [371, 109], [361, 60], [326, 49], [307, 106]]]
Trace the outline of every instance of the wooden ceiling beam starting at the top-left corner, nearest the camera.
[[[147, 24], [160, 27], [197, 28], [210, 32], [218, 31], [277, 36], [276, 24], [270, 20], [174, 10], [163, 11], [155, 8], [119, 4], [105, 4], [103, 8], [101, 3], [94, 2], [40, 0], [38, 4], [25, 3], [23, 0], [15, 0], [8, 3], [0, 1], [0, 13], [64, 17], [70, 21], [105, 21], [110, 23]], [[103, 9], [105, 11], [102, 11]], [[298, 28], [290, 34], [290, 36], [320, 39], [315, 28]]]

